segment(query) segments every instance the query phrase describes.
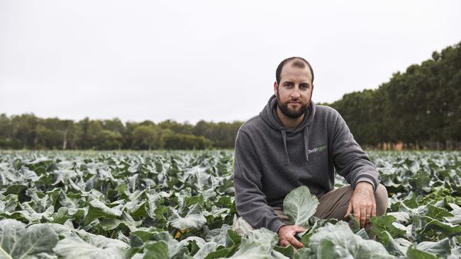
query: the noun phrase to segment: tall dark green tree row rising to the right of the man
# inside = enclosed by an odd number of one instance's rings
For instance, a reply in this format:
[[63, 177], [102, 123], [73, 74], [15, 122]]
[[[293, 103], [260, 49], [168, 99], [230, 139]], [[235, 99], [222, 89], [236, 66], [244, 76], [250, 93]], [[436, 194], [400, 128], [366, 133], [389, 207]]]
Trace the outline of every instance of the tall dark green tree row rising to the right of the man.
[[361, 144], [461, 149], [461, 42], [377, 89], [345, 94], [330, 105]]

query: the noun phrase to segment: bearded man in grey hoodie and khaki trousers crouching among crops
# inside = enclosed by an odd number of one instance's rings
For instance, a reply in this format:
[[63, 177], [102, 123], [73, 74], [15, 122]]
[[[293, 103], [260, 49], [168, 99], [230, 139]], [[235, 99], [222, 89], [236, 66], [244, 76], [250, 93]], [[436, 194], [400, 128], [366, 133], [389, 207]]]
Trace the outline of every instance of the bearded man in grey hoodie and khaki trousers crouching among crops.
[[[306, 185], [316, 195], [316, 216], [360, 226], [387, 208], [387, 191], [367, 154], [333, 108], [311, 101], [313, 70], [301, 57], [279, 64], [272, 96], [261, 113], [240, 127], [235, 140], [235, 205], [254, 227], [279, 235], [282, 246], [303, 245], [294, 235], [305, 229], [287, 224], [284, 197]], [[333, 190], [334, 171], [350, 183]]]

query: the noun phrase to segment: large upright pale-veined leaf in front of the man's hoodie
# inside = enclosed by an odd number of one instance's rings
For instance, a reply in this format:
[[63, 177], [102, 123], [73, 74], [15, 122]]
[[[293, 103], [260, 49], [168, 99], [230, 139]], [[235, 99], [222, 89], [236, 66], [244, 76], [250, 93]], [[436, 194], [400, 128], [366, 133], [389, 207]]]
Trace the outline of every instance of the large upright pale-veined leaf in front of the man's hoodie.
[[306, 226], [309, 218], [316, 213], [317, 206], [316, 195], [312, 195], [306, 186], [291, 190], [283, 202], [284, 214], [287, 214], [291, 222], [297, 226]]

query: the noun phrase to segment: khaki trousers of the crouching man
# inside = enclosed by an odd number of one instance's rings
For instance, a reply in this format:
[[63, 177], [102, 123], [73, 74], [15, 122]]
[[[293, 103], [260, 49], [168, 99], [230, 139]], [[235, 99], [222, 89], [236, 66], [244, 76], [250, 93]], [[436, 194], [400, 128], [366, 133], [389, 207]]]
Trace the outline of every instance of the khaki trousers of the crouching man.
[[[314, 216], [321, 219], [344, 219], [344, 215], [348, 211], [348, 205], [354, 190], [350, 185], [345, 185], [341, 188], [331, 190], [318, 199], [318, 207]], [[384, 185], [379, 184], [374, 192], [374, 200], [376, 202], [376, 215], [382, 216], [387, 209], [387, 190]], [[274, 212], [284, 221], [289, 224], [289, 217], [283, 213], [283, 208], [272, 207]], [[235, 224], [234, 230], [240, 232], [240, 227]]]

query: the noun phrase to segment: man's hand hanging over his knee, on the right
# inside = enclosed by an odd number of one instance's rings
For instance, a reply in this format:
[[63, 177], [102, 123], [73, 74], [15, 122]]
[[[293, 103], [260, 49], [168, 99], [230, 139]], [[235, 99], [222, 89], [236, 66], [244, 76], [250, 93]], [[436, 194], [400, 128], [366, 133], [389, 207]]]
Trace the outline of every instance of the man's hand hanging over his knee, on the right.
[[373, 185], [367, 182], [360, 182], [355, 185], [354, 193], [350, 198], [348, 212], [344, 217], [347, 218], [351, 213], [360, 222], [361, 228], [366, 226], [372, 217], [376, 217]]

